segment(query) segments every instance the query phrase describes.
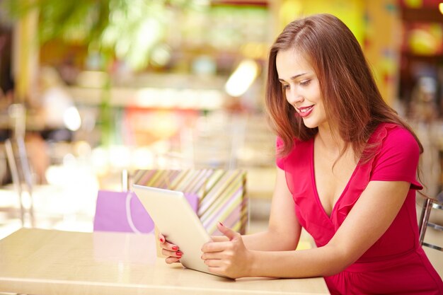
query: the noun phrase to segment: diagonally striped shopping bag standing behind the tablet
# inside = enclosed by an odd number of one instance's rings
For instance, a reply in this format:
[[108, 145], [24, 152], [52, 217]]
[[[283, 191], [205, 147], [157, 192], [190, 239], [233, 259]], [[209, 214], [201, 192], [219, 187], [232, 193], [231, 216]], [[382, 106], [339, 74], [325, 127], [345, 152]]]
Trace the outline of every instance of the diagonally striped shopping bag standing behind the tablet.
[[132, 180], [137, 185], [197, 194], [197, 215], [210, 235], [219, 234], [218, 221], [234, 231], [246, 233], [248, 198], [243, 170], [137, 170]]

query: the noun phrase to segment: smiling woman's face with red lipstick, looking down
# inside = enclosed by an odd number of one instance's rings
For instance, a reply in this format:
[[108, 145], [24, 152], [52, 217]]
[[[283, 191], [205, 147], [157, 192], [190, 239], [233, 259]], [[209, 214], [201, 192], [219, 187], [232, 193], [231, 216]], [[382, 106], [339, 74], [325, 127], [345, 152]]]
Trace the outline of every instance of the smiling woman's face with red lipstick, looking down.
[[286, 100], [304, 125], [308, 128], [327, 125], [320, 86], [309, 62], [295, 50], [279, 51], [275, 62]]

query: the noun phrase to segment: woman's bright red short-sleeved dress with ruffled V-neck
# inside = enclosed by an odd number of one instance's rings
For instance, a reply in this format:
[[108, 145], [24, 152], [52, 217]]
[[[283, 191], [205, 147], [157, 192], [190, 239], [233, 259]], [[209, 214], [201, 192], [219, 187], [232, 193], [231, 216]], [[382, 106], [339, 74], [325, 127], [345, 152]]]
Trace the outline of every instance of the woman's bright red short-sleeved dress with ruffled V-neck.
[[[380, 143], [374, 158], [357, 164], [330, 216], [316, 190], [313, 139], [296, 141], [288, 156], [277, 158], [277, 166], [285, 171], [294, 198], [297, 219], [318, 247], [334, 236], [369, 181], [411, 184], [400, 212], [383, 236], [346, 270], [325, 277], [329, 291], [331, 294], [443, 294], [442, 278], [418, 242], [415, 190], [422, 189], [416, 180], [418, 144], [408, 130], [392, 124], [379, 125], [368, 142]], [[277, 139], [277, 148], [281, 144]]]

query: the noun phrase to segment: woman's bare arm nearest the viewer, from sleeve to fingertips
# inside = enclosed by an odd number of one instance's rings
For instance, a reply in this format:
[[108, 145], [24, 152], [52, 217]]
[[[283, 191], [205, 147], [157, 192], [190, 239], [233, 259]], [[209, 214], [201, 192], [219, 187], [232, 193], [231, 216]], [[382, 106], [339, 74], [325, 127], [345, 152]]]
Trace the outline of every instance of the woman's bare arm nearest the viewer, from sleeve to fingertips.
[[275, 252], [248, 250], [238, 233], [219, 226], [229, 241], [205, 244], [202, 259], [211, 272], [233, 278], [336, 274], [355, 262], [389, 228], [409, 187], [410, 183], [401, 181], [371, 181], [340, 229], [323, 247]]

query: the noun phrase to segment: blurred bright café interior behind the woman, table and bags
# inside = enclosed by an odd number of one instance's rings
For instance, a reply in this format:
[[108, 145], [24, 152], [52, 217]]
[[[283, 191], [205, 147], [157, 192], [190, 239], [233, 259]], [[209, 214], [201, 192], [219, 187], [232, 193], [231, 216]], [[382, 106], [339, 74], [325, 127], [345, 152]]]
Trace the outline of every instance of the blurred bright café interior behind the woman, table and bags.
[[[267, 51], [284, 25], [312, 13], [333, 13], [355, 34], [384, 98], [422, 140], [425, 193], [437, 195], [439, 2], [0, 0], [0, 236], [22, 220], [92, 231], [98, 190], [125, 190], [122, 175], [137, 169], [246, 170], [254, 231], [275, 180]], [[23, 139], [24, 192], [7, 161], [21, 141], [8, 139]], [[17, 214], [18, 195], [33, 224]]]

